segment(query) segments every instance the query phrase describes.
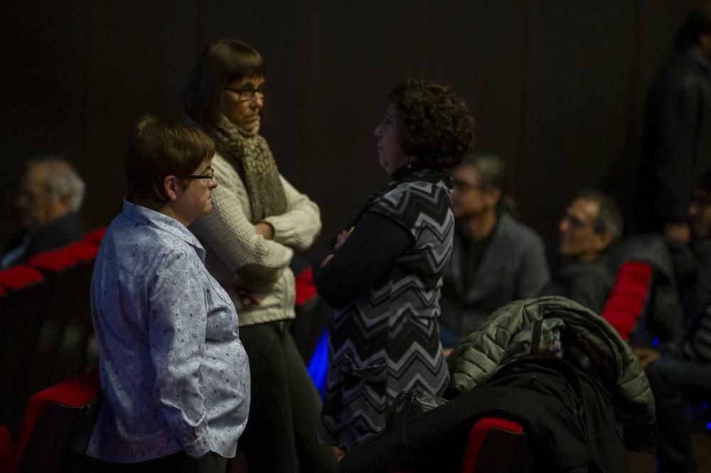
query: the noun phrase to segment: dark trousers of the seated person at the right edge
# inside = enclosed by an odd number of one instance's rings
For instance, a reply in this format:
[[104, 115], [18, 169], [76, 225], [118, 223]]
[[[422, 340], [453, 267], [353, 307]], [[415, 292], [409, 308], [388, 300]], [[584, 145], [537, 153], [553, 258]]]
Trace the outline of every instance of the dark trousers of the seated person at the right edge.
[[695, 472], [688, 401], [711, 397], [711, 366], [662, 357], [647, 367], [646, 374], [654, 393], [659, 425], [659, 471]]

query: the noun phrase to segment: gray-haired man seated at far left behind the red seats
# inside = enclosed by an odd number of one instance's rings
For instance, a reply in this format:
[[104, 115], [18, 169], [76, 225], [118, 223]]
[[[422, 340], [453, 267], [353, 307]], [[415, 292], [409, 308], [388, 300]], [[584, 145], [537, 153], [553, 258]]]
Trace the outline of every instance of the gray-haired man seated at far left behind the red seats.
[[30, 161], [15, 201], [23, 229], [0, 258], [0, 269], [80, 239], [86, 232], [78, 213], [84, 188], [72, 165], [58, 156]]

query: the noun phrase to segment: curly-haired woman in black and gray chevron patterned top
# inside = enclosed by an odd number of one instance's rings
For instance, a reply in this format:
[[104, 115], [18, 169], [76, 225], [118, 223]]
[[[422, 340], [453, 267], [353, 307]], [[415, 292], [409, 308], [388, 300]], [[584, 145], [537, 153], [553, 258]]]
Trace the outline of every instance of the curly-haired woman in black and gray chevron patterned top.
[[442, 169], [461, 161], [474, 119], [449, 87], [410, 79], [390, 93], [375, 138], [392, 182], [314, 268], [333, 308], [319, 439], [346, 452], [383, 430], [400, 391], [447, 387], [437, 317], [454, 217]]

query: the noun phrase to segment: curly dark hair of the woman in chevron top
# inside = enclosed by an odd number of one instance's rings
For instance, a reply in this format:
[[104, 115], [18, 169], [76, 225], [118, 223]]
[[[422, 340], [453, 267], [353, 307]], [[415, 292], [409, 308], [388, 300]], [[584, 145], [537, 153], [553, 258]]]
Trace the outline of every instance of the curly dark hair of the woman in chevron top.
[[447, 85], [407, 79], [392, 89], [402, 151], [438, 168], [461, 162], [474, 144], [474, 117]]

